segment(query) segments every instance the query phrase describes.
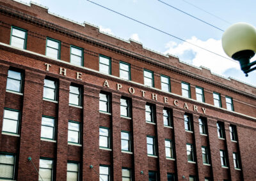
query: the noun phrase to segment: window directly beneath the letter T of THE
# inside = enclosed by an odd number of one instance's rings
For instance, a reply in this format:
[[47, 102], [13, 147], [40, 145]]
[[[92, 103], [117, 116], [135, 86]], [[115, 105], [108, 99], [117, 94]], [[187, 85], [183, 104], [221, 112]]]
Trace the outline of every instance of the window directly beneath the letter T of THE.
[[45, 78], [44, 80], [44, 98], [52, 101], [57, 100], [57, 86], [56, 82]]

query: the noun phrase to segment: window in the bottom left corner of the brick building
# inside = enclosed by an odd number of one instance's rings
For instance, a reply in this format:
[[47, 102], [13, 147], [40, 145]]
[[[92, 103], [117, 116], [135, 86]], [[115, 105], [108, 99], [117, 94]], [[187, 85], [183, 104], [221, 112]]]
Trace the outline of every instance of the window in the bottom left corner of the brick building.
[[0, 178], [14, 180], [15, 155], [0, 153]]

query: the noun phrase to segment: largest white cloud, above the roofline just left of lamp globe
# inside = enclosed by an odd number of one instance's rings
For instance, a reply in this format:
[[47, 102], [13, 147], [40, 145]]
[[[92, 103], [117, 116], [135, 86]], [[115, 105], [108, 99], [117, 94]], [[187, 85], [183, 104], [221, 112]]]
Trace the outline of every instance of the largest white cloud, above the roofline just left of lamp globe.
[[[209, 40], [202, 41], [193, 36], [191, 39], [186, 41], [189, 41], [189, 43], [193, 43], [199, 47], [211, 50], [216, 54], [220, 54], [230, 59], [222, 49], [221, 40], [214, 40], [210, 38]], [[190, 45], [189, 43], [182, 42], [177, 44], [174, 41], [170, 41], [166, 43], [165, 48], [168, 48], [168, 50], [166, 50], [164, 54], [169, 53], [172, 55], [177, 55], [180, 57], [180, 61], [189, 62], [189, 64], [193, 64], [194, 66], [198, 67], [204, 66], [211, 69], [212, 72], [218, 73], [219, 75], [224, 75], [224, 72], [230, 68], [240, 69], [240, 66], [237, 62], [227, 60], [218, 55], [214, 55], [210, 52], [202, 50], [202, 48]], [[192, 52], [192, 54], [189, 56], [186, 55], [188, 52]]]

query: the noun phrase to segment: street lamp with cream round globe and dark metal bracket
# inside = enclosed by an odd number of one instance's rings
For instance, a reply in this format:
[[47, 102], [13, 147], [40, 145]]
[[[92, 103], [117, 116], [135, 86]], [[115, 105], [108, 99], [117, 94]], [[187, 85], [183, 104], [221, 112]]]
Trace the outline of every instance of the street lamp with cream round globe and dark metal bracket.
[[228, 57], [239, 61], [245, 76], [256, 69], [251, 68], [256, 61], [250, 62], [256, 52], [256, 29], [252, 25], [239, 22], [228, 27], [222, 36], [222, 47]]

